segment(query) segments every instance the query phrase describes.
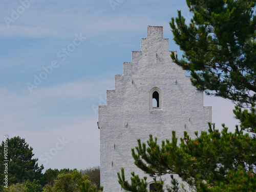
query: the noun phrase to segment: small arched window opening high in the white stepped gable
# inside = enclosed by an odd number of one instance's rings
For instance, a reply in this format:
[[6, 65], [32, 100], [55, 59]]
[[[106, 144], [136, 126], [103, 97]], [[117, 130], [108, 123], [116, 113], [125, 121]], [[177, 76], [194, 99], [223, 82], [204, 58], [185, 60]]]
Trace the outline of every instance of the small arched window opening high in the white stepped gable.
[[162, 93], [158, 87], [150, 91], [150, 110], [162, 109]]

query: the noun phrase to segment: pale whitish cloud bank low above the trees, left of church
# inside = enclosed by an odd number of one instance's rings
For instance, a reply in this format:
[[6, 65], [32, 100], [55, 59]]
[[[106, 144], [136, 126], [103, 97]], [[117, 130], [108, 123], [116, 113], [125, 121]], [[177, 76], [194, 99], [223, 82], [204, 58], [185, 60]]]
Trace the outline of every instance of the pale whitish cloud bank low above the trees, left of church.
[[[71, 122], [51, 130], [41, 130], [40, 132], [17, 130], [7, 132], [7, 134], [9, 137], [25, 138], [29, 146], [33, 148], [34, 158], [38, 158], [38, 164], [44, 164], [44, 171], [49, 168], [85, 169], [89, 166], [99, 165], [97, 116], [74, 120], [77, 123]], [[64, 141], [63, 145], [59, 142], [60, 140]], [[46, 153], [50, 155], [50, 158]], [[70, 162], [73, 162], [73, 165]]]

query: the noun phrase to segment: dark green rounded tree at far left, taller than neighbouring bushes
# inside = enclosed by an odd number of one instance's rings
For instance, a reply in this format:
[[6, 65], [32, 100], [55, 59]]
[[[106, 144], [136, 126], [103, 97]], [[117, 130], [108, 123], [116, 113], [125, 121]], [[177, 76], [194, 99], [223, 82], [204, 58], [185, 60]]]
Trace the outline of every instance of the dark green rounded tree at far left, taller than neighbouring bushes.
[[[42, 177], [41, 171], [44, 166], [38, 167], [37, 158], [32, 159], [34, 154], [33, 148], [25, 142], [25, 139], [19, 136], [8, 138], [8, 185], [22, 183], [23, 181], [40, 180]], [[0, 161], [4, 162], [4, 141], [0, 145]], [[3, 180], [4, 164], [0, 164], [0, 179]], [[0, 183], [0, 187], [3, 182]]]

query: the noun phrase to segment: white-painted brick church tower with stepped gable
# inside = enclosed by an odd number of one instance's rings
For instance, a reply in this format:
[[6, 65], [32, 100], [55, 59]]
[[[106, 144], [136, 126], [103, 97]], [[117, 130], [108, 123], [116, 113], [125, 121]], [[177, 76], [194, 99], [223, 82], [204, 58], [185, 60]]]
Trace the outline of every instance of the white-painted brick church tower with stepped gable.
[[[123, 75], [115, 75], [115, 90], [106, 91], [106, 105], [99, 106], [100, 184], [104, 192], [120, 192], [117, 172], [124, 167], [143, 178], [145, 173], [134, 164], [131, 149], [137, 139], [149, 135], [158, 142], [178, 138], [187, 131], [207, 131], [211, 107], [203, 106], [203, 92], [195, 90], [185, 70], [170, 58], [163, 27], [147, 27], [141, 51], [132, 52], [132, 62], [123, 63]], [[177, 52], [176, 52], [177, 54]], [[169, 180], [169, 176], [162, 177]], [[147, 176], [148, 189], [153, 178]]]

